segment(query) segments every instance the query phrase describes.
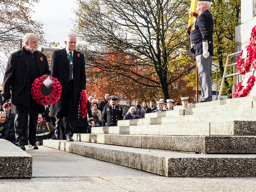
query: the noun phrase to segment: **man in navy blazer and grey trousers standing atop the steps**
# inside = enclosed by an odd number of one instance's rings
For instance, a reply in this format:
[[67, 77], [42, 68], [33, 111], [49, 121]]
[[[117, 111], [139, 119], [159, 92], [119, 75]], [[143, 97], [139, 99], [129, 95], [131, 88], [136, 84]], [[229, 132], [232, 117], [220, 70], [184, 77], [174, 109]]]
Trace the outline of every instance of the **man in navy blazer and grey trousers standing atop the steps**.
[[211, 0], [197, 1], [196, 11], [199, 16], [192, 25], [190, 34], [190, 56], [196, 57], [201, 82], [202, 98], [199, 103], [212, 101], [213, 18], [209, 12], [210, 7]]

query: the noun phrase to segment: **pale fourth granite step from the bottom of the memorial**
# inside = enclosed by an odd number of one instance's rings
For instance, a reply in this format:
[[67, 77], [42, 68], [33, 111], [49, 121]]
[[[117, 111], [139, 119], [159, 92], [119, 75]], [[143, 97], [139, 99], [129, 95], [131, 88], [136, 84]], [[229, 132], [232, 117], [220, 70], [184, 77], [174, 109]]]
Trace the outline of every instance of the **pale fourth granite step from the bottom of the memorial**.
[[198, 122], [216, 122], [220, 120], [232, 121], [256, 121], [255, 109], [249, 110], [239, 110], [234, 111], [224, 111], [206, 114], [191, 114], [182, 116], [165, 116], [156, 118], [144, 118], [144, 119], [134, 119], [134, 120], [119, 120], [118, 126], [136, 126], [136, 125], [155, 125], [155, 124], [175, 124], [175, 123], [198, 123]]

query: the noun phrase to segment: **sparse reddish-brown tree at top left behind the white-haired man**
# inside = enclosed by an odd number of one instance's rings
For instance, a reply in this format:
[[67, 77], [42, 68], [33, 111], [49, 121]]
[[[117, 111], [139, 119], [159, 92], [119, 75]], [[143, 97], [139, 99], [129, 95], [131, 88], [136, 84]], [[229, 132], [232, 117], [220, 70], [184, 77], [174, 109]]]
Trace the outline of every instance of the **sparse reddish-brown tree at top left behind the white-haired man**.
[[31, 19], [33, 3], [38, 0], [0, 1], [0, 51], [9, 53], [20, 48], [23, 34], [33, 32], [43, 39], [42, 24]]

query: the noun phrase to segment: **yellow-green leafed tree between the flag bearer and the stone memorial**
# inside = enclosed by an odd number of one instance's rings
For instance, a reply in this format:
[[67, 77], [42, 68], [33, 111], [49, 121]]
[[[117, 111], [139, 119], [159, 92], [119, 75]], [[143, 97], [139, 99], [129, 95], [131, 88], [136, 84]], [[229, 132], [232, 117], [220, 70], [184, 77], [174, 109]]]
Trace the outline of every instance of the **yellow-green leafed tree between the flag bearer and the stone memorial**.
[[[218, 79], [221, 82], [226, 58], [228, 54], [236, 52], [235, 27], [240, 24], [241, 0], [214, 0], [210, 12], [214, 19], [213, 62], [219, 68]], [[231, 68], [228, 69], [230, 72], [233, 72]], [[215, 78], [213, 80], [216, 82]], [[225, 80], [223, 93], [228, 94], [229, 98], [232, 98], [232, 85], [232, 78]]]

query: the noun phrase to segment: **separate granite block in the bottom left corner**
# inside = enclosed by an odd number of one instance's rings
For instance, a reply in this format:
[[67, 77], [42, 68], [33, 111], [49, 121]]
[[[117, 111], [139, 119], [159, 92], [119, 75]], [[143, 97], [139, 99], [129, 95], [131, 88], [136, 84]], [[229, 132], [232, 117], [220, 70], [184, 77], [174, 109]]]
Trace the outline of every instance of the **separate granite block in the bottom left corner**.
[[32, 156], [11, 142], [0, 139], [0, 178], [30, 178]]

